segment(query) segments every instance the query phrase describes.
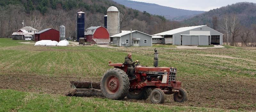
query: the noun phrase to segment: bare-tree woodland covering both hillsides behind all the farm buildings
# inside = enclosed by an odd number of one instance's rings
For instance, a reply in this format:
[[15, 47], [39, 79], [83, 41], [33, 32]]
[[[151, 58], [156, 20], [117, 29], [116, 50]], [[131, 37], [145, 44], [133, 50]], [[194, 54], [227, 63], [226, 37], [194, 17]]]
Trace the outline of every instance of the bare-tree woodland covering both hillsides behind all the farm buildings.
[[[111, 0], [8, 0], [0, 1], [0, 37], [11, 37], [12, 32], [24, 26], [43, 30], [61, 25], [66, 27], [66, 37], [76, 37], [76, 12], [85, 12], [85, 28], [103, 26], [104, 15], [110, 6], [120, 12], [120, 30], [138, 30], [150, 35], [188, 26], [207, 25], [224, 34], [223, 42], [229, 45], [256, 46], [256, 22], [244, 24], [244, 18], [253, 19], [256, 6], [252, 3], [237, 3], [214, 9], [189, 20], [171, 21], [164, 16], [140, 12]], [[243, 8], [247, 6], [246, 8]], [[236, 9], [236, 7], [238, 9]], [[236, 12], [234, 12], [234, 11]], [[233, 12], [232, 12], [233, 11]], [[230, 12], [230, 13], [228, 13]], [[241, 13], [251, 12], [249, 16]], [[255, 20], [254, 20], [255, 21]]]

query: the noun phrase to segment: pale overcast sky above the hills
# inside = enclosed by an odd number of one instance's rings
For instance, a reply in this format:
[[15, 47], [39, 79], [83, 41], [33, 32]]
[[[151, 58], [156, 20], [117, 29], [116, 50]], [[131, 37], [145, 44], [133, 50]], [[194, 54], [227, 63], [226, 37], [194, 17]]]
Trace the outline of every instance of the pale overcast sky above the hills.
[[256, 0], [132, 0], [138, 2], [146, 2], [152, 4], [159, 4], [163, 6], [186, 9], [193, 11], [209, 11], [211, 9], [220, 8], [235, 4], [237, 2], [253, 2]]

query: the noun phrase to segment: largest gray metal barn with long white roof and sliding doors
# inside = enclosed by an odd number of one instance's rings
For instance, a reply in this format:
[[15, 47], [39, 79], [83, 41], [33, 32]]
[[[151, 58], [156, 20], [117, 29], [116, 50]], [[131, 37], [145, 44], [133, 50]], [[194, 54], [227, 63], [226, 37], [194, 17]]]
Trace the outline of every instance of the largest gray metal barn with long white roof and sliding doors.
[[163, 36], [164, 44], [173, 45], [222, 45], [223, 34], [207, 27], [192, 26], [182, 27], [155, 34], [153, 36]]

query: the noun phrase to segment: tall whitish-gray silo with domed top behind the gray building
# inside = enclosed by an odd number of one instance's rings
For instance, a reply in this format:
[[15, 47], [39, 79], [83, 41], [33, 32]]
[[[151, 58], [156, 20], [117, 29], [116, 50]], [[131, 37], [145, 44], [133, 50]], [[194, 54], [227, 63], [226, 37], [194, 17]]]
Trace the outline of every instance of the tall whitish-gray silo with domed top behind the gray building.
[[119, 34], [119, 11], [115, 6], [111, 6], [107, 11], [107, 29], [109, 36]]

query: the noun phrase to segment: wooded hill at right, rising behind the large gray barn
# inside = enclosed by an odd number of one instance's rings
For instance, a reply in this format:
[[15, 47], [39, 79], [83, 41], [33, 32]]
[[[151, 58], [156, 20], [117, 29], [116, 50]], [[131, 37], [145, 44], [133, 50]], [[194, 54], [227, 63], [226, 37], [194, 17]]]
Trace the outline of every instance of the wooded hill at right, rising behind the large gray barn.
[[239, 23], [242, 26], [251, 27], [252, 24], [256, 24], [256, 4], [241, 2], [224, 6], [184, 20], [182, 23], [190, 25], [204, 24], [210, 27], [214, 27], [212, 23], [213, 17], [217, 17], [218, 20], [222, 20], [222, 18], [227, 16], [236, 16], [237, 20], [239, 20]]

